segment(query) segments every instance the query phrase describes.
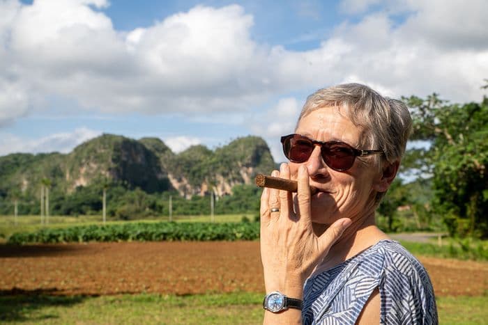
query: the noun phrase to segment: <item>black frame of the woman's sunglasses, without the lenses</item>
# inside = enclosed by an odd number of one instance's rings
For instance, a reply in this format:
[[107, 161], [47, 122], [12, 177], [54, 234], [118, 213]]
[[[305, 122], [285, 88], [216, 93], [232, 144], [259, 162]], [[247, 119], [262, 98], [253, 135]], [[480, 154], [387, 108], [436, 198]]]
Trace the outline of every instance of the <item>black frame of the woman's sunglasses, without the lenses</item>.
[[[326, 163], [326, 165], [329, 167], [329, 168], [332, 168], [334, 171], [347, 171], [348, 169], [350, 169], [353, 164], [354, 164], [354, 161], [356, 161], [356, 157], [365, 157], [365, 156], [369, 156], [371, 154], [384, 154], [383, 150], [361, 150], [361, 149], [358, 149], [358, 148], [354, 148], [353, 146], [345, 143], [345, 142], [342, 142], [342, 141], [317, 141], [317, 140], [312, 140], [311, 138], [307, 137], [307, 136], [303, 136], [302, 134], [298, 134], [298, 133], [293, 133], [293, 134], [288, 134], [287, 136], [282, 136], [281, 137], [281, 143], [283, 145], [283, 152], [284, 152], [284, 156], [287, 157], [287, 159], [293, 163], [297, 163], [297, 164], [302, 164], [304, 163], [305, 161], [307, 161], [308, 159], [310, 159], [310, 156], [312, 155], [312, 152], [314, 151], [314, 149], [312, 148], [312, 150], [310, 151], [310, 155], [307, 157], [306, 160], [304, 161], [298, 161], [298, 160], [294, 160], [294, 159], [291, 159], [290, 157], [288, 157], [289, 155], [287, 154], [287, 150], [285, 148], [285, 141], [287, 140], [291, 140], [292, 138], [294, 137], [300, 137], [300, 138], [303, 138], [304, 140], [307, 140], [307, 141], [310, 141], [310, 143], [312, 144], [312, 147], [314, 145], [319, 145], [320, 146], [320, 152], [321, 152], [321, 157], [323, 159], [323, 162]], [[327, 160], [328, 159], [325, 159], [324, 157], [327, 157], [329, 156], [328, 154], [326, 154], [326, 152], [324, 150], [326, 150], [326, 148], [330, 148], [331, 145], [344, 145], [346, 146], [348, 149], [351, 150], [351, 152], [353, 152], [353, 159], [352, 159], [352, 162], [351, 162], [351, 166], [349, 166], [348, 168], [335, 168], [333, 166], [330, 166], [328, 163], [327, 163]], [[290, 146], [290, 149], [291, 149], [291, 146]]]

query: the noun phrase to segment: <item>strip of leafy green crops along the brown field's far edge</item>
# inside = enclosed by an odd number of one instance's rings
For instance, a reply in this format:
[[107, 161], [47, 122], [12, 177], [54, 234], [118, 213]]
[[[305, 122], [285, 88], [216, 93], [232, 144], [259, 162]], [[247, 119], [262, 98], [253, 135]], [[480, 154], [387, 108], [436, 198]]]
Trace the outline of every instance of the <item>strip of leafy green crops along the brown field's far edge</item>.
[[254, 240], [259, 223], [125, 223], [46, 228], [37, 232], [17, 232], [9, 244], [67, 243], [88, 241], [213, 241]]

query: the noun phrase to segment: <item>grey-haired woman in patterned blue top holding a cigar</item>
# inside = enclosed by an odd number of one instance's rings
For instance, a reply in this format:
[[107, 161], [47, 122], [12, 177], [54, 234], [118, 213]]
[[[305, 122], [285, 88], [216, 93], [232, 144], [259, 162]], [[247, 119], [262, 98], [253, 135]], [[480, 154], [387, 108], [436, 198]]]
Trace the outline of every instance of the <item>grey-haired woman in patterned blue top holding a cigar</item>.
[[406, 106], [367, 86], [307, 98], [272, 174], [298, 193], [261, 196], [265, 324], [437, 324], [424, 267], [374, 220], [410, 132]]

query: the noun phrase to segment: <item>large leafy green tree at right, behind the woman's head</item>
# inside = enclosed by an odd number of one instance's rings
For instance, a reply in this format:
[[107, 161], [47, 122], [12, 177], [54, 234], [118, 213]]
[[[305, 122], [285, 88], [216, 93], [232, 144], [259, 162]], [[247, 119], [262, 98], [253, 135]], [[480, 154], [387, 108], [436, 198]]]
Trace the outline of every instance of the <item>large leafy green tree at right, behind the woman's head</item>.
[[412, 107], [413, 139], [432, 143], [415, 164], [433, 175], [434, 212], [450, 235], [488, 237], [488, 98], [464, 105], [436, 94], [405, 100]]

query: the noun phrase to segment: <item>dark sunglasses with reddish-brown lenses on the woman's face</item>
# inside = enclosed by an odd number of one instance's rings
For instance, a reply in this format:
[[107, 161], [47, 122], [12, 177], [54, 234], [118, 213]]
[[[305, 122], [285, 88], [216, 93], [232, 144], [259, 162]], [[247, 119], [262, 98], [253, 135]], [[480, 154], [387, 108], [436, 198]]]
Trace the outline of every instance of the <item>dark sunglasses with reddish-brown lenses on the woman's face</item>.
[[340, 141], [315, 141], [301, 134], [289, 134], [281, 137], [284, 155], [289, 161], [303, 163], [310, 158], [315, 145], [320, 145], [323, 161], [334, 171], [347, 171], [356, 157], [370, 154], [383, 154], [383, 150], [359, 150]]

